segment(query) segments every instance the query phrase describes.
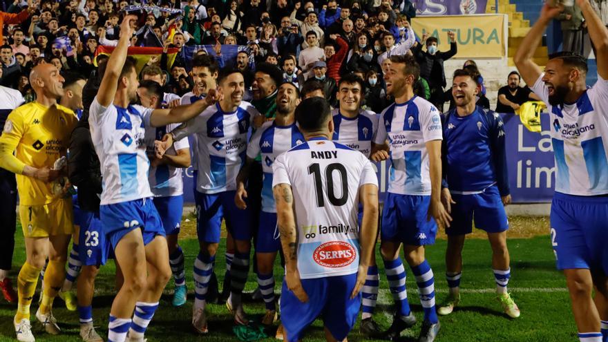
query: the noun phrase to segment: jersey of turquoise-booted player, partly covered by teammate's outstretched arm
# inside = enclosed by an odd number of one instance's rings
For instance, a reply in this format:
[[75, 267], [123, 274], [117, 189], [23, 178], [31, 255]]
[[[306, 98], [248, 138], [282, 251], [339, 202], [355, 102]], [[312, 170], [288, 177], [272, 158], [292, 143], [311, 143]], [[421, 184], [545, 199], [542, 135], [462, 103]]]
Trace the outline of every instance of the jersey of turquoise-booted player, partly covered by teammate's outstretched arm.
[[[154, 140], [162, 140], [162, 137], [173, 131], [180, 124], [168, 124], [167, 126], [151, 127], [146, 126], [146, 152], [148, 155], [154, 154]], [[175, 151], [180, 149], [188, 149], [188, 138], [184, 137], [176, 141], [167, 150], [168, 155], [176, 155]], [[160, 164], [158, 167], [150, 167], [148, 174], [150, 188], [155, 197], [180, 196], [184, 193], [184, 180], [182, 180], [182, 168], [172, 167], [167, 164]]]

